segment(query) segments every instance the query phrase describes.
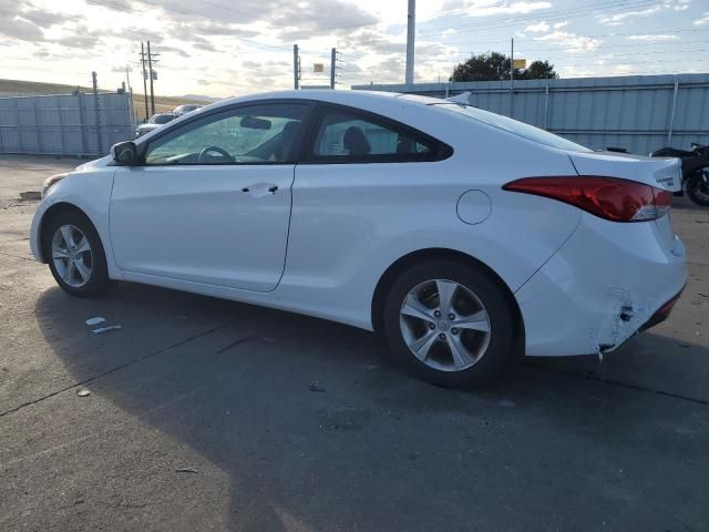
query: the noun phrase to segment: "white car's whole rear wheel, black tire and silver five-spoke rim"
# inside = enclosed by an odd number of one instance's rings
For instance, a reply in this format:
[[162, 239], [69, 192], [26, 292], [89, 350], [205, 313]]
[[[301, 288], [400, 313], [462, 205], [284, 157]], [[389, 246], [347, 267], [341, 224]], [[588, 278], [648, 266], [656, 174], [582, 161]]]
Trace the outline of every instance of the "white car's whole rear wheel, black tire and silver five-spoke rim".
[[423, 379], [464, 388], [497, 376], [515, 348], [515, 313], [482, 267], [435, 260], [407, 269], [384, 304], [384, 334]]

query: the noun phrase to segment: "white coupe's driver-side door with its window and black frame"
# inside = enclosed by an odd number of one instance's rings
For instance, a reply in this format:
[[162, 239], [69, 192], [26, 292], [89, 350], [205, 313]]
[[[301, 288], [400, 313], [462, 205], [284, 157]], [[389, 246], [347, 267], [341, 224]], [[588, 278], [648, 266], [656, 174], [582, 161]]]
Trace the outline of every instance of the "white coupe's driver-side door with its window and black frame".
[[280, 101], [201, 114], [115, 172], [111, 241], [127, 273], [255, 291], [284, 272], [295, 154], [309, 105]]

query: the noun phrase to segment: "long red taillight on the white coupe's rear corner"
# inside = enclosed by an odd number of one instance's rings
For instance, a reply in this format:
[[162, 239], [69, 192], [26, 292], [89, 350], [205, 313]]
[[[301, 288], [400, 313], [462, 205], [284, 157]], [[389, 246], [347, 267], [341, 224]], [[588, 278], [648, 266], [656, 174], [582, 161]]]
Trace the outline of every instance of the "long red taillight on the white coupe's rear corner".
[[551, 197], [613, 222], [645, 222], [667, 214], [672, 193], [636, 181], [597, 175], [524, 177], [505, 191]]

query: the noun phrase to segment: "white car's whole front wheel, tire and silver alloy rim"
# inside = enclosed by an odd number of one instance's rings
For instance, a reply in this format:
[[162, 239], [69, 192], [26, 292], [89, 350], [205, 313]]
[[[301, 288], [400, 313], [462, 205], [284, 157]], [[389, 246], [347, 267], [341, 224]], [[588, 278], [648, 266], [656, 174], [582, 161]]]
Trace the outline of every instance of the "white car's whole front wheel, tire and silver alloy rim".
[[55, 216], [43, 232], [43, 244], [52, 276], [66, 293], [92, 297], [112, 286], [101, 238], [85, 216]]

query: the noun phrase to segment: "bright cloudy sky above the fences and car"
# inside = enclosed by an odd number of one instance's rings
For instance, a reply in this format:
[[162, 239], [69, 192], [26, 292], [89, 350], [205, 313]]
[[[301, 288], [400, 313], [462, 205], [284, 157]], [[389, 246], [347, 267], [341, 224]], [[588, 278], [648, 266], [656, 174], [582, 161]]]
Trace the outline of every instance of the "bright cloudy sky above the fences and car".
[[[215, 98], [327, 84], [402, 83], [407, 0], [0, 0], [1, 79]], [[709, 72], [709, 0], [418, 0], [415, 81], [446, 81], [471, 53], [548, 60], [562, 78]], [[325, 73], [314, 72], [325, 63]]]

